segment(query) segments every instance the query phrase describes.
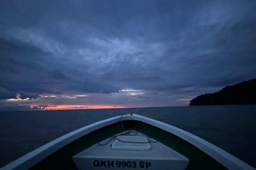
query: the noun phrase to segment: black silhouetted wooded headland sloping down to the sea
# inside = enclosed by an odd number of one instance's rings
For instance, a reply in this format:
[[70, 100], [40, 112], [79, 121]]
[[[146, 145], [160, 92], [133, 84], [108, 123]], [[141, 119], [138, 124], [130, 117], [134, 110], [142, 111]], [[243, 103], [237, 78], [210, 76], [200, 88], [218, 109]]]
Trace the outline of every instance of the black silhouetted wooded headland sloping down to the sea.
[[190, 100], [190, 106], [256, 104], [256, 79], [226, 86], [216, 93], [203, 94]]

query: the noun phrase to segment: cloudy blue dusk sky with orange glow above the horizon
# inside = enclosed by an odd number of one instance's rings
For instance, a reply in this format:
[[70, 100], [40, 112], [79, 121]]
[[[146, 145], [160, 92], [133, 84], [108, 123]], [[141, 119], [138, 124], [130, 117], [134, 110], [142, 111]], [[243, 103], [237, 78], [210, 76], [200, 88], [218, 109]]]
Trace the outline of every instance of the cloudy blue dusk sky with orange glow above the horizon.
[[255, 0], [1, 0], [0, 111], [187, 106], [256, 78], [255, 9]]

